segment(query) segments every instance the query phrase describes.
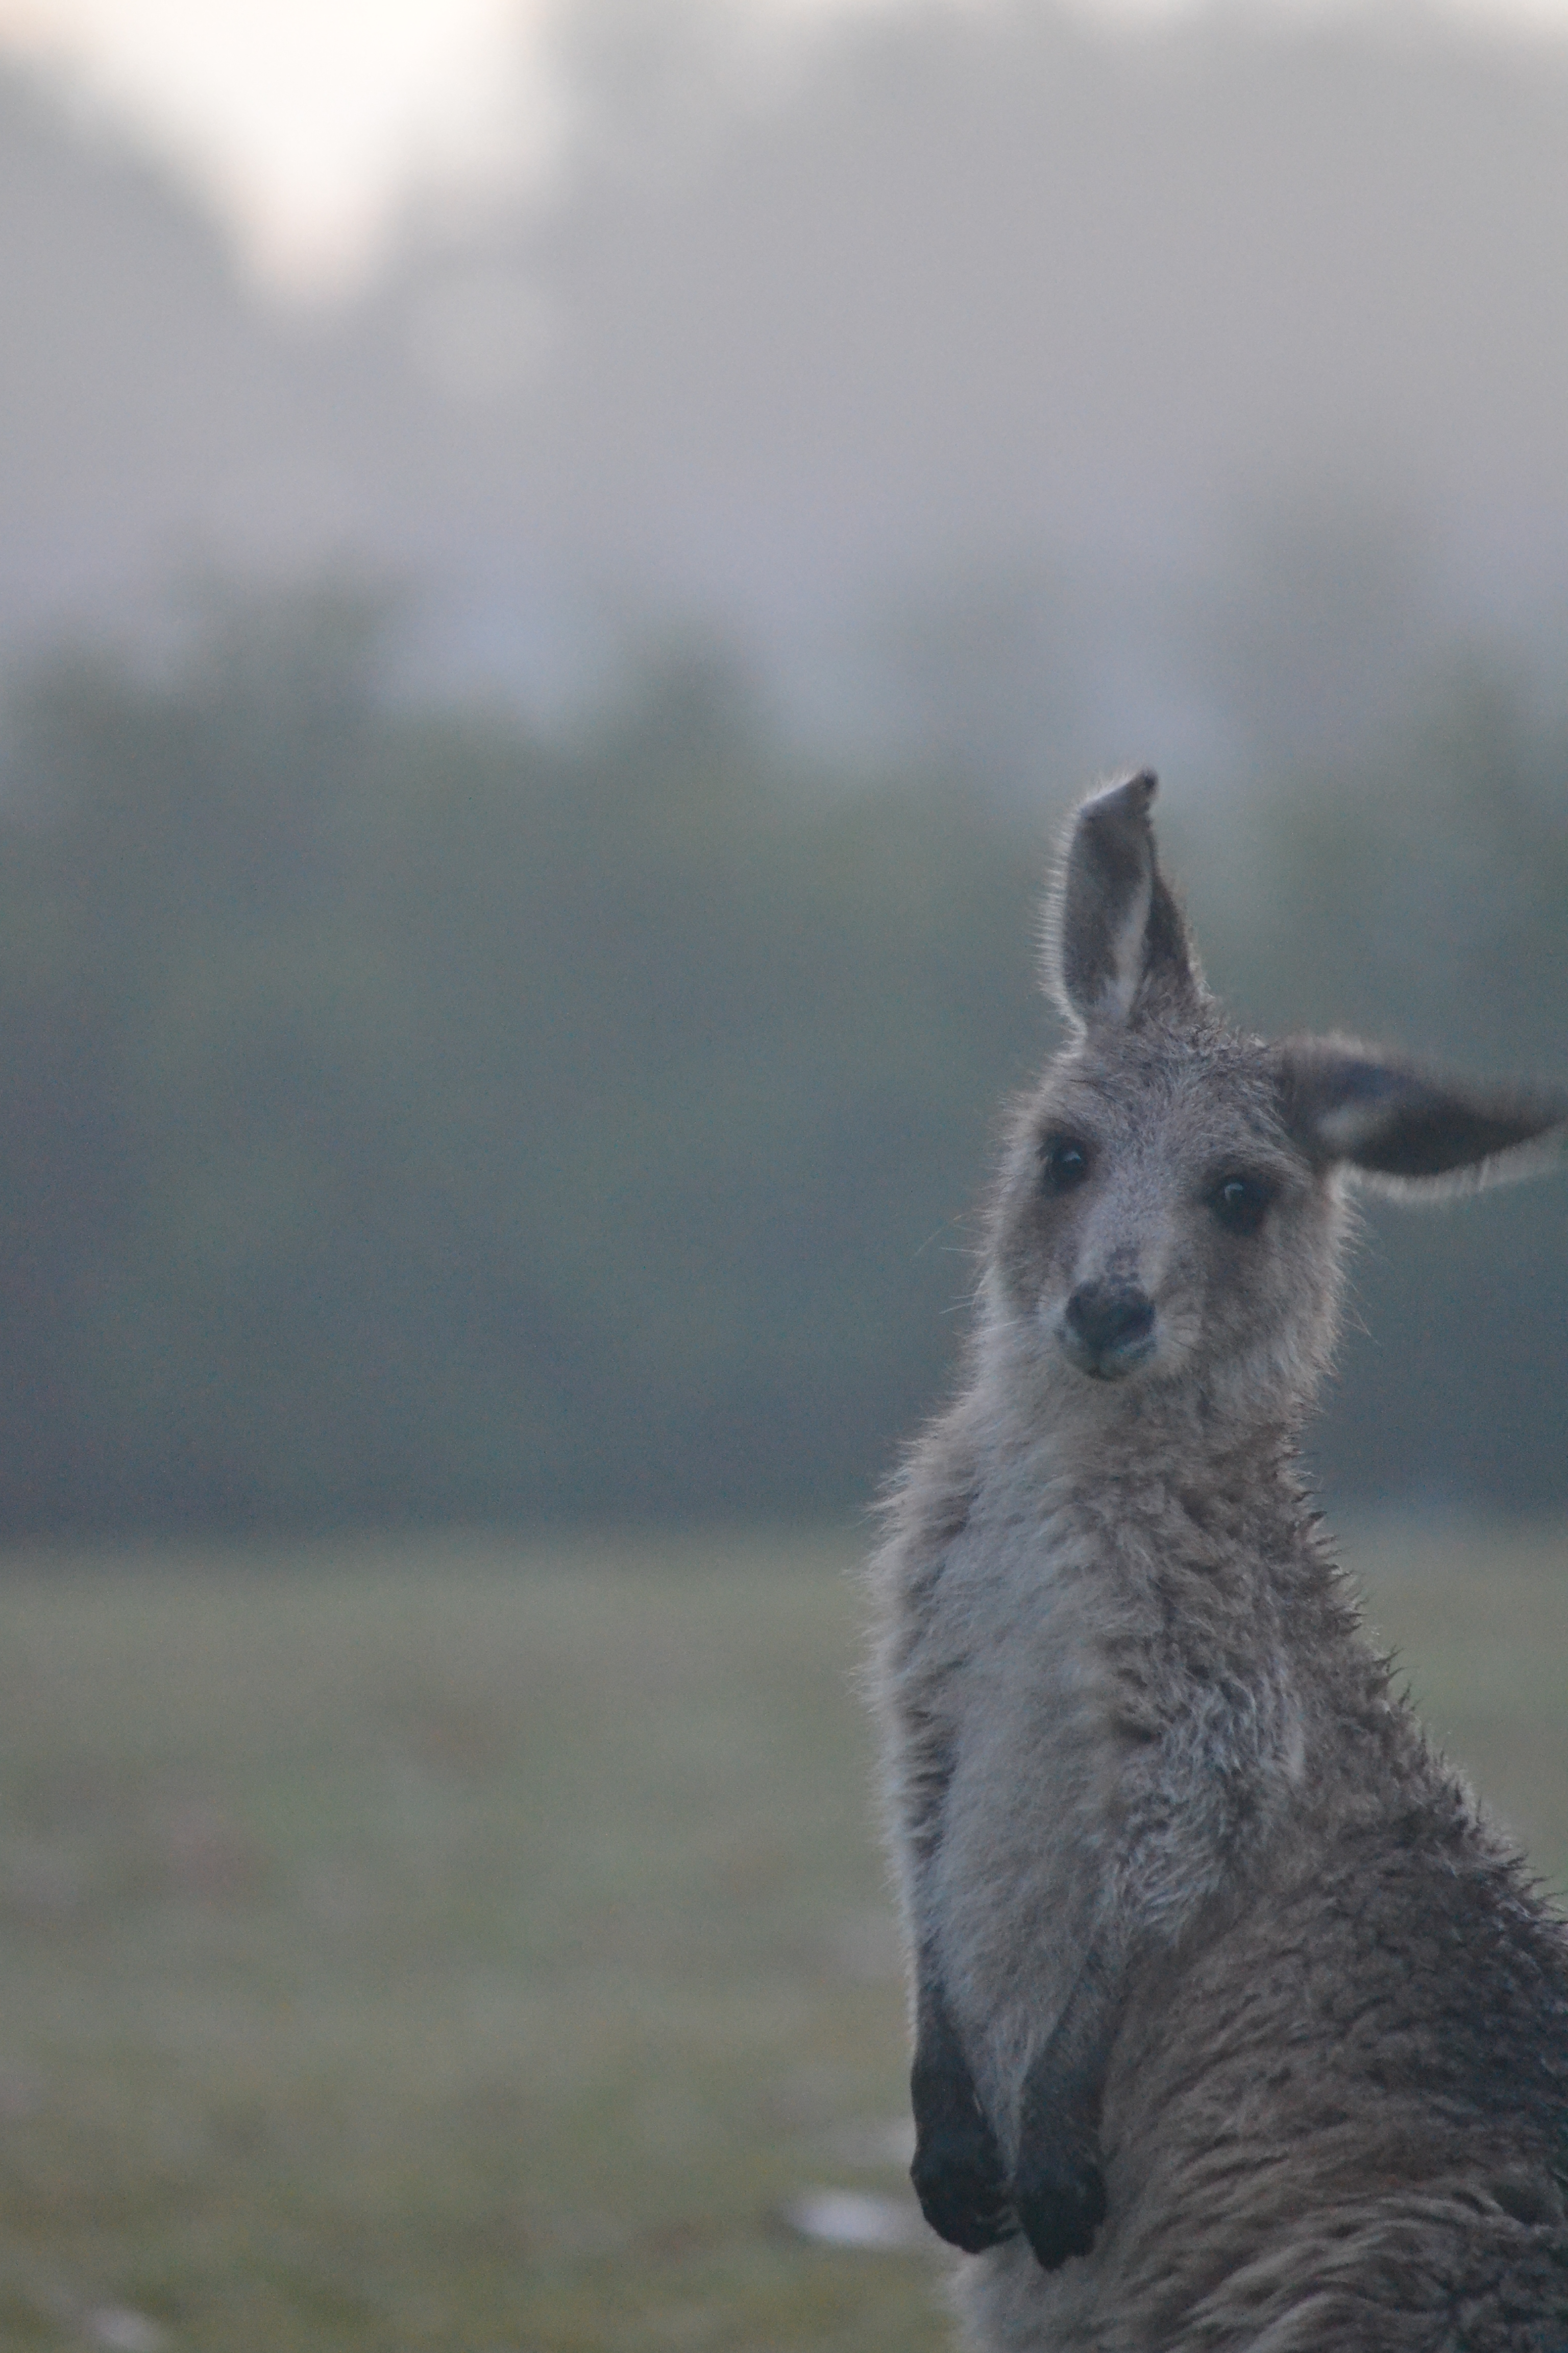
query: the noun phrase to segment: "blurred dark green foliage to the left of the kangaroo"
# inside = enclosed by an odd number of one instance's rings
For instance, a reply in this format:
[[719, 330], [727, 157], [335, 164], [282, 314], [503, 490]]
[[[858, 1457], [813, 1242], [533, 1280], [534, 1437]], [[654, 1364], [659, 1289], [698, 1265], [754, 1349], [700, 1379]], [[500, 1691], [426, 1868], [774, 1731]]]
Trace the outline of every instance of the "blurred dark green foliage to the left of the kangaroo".
[[785, 776], [701, 661], [559, 748], [378, 642], [19, 694], [5, 1525], [842, 1504], [945, 1355], [1037, 854]]

